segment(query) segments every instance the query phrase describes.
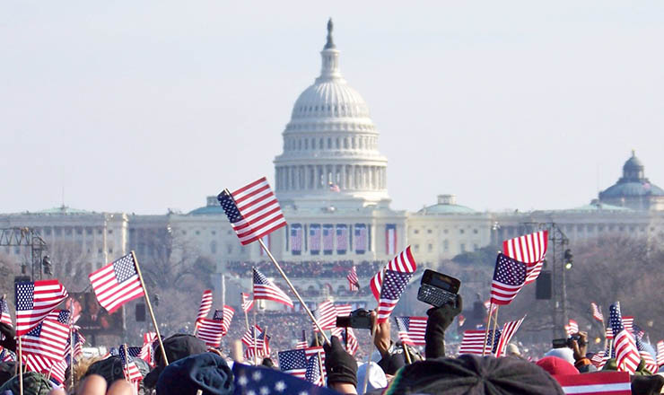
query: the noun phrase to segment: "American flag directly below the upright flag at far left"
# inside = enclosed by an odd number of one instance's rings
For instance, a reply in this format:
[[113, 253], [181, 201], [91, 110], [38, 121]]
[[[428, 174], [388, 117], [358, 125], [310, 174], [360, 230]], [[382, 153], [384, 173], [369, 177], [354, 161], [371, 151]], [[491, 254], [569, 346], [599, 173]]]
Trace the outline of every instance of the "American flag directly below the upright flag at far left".
[[57, 320], [43, 320], [21, 337], [25, 355], [41, 355], [54, 361], [65, 358], [69, 327]]

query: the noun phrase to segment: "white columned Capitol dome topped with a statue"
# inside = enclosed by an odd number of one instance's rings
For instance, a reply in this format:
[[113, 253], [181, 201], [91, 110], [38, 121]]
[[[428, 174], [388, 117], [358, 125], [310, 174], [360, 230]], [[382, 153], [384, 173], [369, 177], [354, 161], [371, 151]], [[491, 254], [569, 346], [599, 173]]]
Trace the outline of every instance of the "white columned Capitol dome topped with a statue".
[[330, 20], [320, 75], [295, 101], [284, 129], [275, 193], [285, 206], [387, 206], [388, 161], [369, 106], [341, 75], [332, 30]]

